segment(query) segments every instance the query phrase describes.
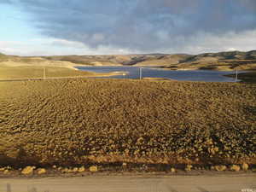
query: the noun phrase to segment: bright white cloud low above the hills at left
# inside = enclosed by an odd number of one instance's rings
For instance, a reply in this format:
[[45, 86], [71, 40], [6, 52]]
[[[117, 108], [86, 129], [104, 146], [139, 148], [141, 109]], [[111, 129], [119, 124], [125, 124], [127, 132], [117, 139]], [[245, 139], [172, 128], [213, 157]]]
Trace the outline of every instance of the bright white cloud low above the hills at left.
[[[90, 48], [83, 43], [59, 38], [34, 38], [30, 41], [0, 41], [0, 52], [7, 55], [108, 55], [130, 54], [129, 49], [100, 45]], [[136, 52], [136, 51], [135, 51]], [[133, 53], [135, 53], [133, 52]]]

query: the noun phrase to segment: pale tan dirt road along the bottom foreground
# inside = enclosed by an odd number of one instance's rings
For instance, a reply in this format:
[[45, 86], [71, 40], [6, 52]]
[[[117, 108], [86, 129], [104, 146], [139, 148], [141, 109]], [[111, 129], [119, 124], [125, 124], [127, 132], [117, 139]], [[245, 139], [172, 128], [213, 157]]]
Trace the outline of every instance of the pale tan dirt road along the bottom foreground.
[[0, 179], [0, 192], [255, 192], [256, 174]]

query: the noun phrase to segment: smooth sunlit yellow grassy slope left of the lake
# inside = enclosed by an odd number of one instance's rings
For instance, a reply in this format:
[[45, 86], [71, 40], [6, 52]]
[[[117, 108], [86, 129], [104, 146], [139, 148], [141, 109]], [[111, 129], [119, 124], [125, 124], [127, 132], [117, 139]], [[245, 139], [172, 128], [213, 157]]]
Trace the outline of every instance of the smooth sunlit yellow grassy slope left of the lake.
[[0, 55], [0, 79], [42, 79], [44, 72], [46, 78], [95, 75], [95, 73], [75, 70], [73, 63], [68, 61]]

